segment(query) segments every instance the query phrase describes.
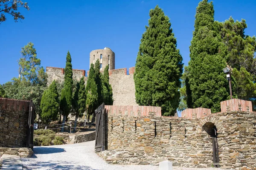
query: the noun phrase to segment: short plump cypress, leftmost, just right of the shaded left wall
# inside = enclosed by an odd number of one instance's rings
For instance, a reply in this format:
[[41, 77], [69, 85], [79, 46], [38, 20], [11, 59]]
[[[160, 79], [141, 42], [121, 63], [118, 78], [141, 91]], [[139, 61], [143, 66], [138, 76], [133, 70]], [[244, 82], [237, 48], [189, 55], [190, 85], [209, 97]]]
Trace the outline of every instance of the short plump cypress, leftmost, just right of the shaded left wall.
[[49, 124], [57, 119], [59, 111], [58, 91], [55, 80], [44, 91], [40, 108], [42, 110], [41, 119], [46, 124], [45, 129], [47, 129]]

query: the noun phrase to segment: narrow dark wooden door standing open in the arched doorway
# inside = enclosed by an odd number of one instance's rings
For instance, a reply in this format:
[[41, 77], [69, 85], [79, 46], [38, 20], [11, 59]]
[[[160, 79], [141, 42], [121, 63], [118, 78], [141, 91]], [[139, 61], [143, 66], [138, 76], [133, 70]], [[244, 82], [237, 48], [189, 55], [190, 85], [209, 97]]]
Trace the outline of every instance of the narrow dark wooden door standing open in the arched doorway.
[[217, 141], [217, 129], [212, 128], [212, 154], [213, 154], [213, 167], [220, 167], [220, 159], [218, 156], [218, 141]]

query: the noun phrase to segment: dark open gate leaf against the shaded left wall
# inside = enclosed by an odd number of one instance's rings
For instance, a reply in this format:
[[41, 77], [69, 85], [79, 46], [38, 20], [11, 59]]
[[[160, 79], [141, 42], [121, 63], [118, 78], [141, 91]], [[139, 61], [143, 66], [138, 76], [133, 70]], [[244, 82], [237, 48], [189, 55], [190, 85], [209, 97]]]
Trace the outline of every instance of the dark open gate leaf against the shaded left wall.
[[35, 119], [35, 105], [30, 100], [29, 103], [29, 119], [28, 119], [28, 130], [27, 130], [27, 142], [26, 147], [29, 147], [33, 150], [33, 140], [34, 140], [34, 119]]

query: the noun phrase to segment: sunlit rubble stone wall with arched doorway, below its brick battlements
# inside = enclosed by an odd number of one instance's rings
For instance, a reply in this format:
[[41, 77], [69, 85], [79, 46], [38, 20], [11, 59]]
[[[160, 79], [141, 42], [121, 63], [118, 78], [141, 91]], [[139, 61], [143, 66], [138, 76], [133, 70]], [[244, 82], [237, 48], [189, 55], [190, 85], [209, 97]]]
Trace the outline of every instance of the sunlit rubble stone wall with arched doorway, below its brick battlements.
[[200, 119], [108, 114], [109, 163], [212, 167], [212, 137], [217, 128], [220, 166], [256, 170], [256, 113], [229, 111]]

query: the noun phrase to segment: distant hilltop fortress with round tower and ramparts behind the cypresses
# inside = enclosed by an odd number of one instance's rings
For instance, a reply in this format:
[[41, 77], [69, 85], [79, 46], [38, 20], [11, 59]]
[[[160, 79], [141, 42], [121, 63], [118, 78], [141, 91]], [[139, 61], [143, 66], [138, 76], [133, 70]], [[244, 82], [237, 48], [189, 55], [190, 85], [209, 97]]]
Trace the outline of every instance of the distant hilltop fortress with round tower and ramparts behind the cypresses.
[[[137, 105], [135, 101], [134, 67], [129, 68], [128, 71], [127, 68], [115, 69], [115, 53], [108, 47], [90, 52], [90, 65], [91, 63], [95, 64], [97, 59], [100, 61], [101, 72], [104, 71], [107, 65], [109, 66], [109, 83], [113, 89], [113, 105]], [[46, 73], [48, 75], [48, 85], [53, 80], [64, 81], [64, 68], [46, 67]], [[86, 84], [87, 75], [85, 70], [73, 69], [73, 80], [79, 81], [81, 77], [84, 77]]]

